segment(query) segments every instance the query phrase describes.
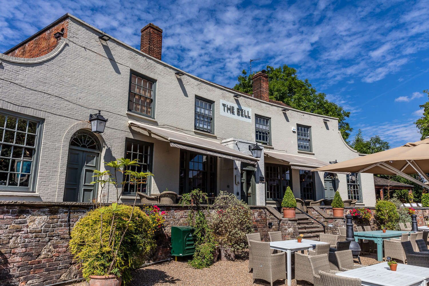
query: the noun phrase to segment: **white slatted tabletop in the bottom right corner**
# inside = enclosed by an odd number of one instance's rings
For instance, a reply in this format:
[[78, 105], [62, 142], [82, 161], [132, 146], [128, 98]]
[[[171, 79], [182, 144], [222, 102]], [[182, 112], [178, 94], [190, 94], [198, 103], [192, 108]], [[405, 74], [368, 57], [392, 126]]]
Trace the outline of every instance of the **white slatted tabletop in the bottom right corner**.
[[426, 285], [423, 277], [416, 277], [405, 274], [401, 271], [387, 271], [378, 268], [361, 267], [335, 275], [343, 277], [359, 278], [362, 285], [380, 285], [380, 286], [420, 286]]

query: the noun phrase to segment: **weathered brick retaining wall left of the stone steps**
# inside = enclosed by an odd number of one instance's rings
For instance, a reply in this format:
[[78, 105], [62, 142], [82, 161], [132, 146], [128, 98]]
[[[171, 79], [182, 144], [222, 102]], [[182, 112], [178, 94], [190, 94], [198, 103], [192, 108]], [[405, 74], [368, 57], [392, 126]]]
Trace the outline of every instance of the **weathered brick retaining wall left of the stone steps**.
[[[69, 230], [92, 208], [90, 203], [0, 202], [0, 286], [48, 285], [80, 278], [68, 251]], [[170, 257], [171, 226], [187, 225], [188, 208], [160, 205], [166, 211], [165, 230], [157, 235], [153, 261]], [[296, 223], [281, 219], [270, 208], [252, 207], [255, 232], [294, 234]], [[268, 222], [272, 222], [271, 229]]]

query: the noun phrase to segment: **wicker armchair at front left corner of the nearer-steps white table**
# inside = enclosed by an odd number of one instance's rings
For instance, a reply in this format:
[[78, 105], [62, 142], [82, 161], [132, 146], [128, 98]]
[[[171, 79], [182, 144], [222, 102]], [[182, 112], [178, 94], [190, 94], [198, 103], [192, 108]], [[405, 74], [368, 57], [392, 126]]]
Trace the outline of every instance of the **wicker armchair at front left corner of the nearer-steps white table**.
[[269, 283], [276, 280], [285, 280], [286, 283], [286, 254], [271, 253], [269, 242], [251, 240], [250, 246], [253, 255], [253, 282], [262, 279]]

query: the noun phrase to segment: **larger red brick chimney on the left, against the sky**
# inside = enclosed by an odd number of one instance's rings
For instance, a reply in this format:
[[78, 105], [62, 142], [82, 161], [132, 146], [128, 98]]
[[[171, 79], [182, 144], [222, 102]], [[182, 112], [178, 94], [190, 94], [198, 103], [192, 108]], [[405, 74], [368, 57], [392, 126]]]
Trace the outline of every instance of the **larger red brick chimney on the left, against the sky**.
[[149, 23], [140, 32], [142, 32], [140, 51], [161, 60], [162, 29]]

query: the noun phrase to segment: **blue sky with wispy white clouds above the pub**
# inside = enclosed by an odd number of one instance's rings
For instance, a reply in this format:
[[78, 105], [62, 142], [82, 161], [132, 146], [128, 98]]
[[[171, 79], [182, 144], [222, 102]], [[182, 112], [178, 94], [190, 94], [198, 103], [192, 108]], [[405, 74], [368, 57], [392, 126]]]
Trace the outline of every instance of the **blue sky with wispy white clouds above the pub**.
[[392, 147], [420, 138], [428, 100], [429, 0], [0, 0], [4, 52], [69, 12], [139, 48], [140, 29], [163, 29], [163, 60], [233, 87], [252, 69], [287, 64], [352, 114], [353, 135]]

